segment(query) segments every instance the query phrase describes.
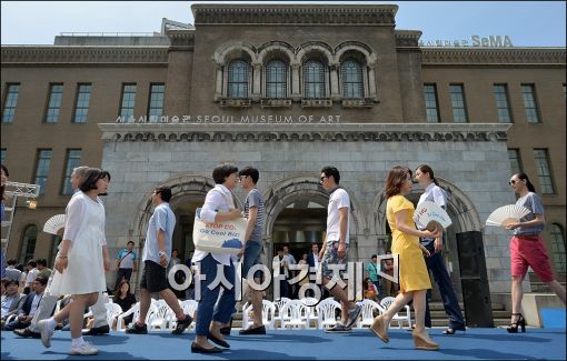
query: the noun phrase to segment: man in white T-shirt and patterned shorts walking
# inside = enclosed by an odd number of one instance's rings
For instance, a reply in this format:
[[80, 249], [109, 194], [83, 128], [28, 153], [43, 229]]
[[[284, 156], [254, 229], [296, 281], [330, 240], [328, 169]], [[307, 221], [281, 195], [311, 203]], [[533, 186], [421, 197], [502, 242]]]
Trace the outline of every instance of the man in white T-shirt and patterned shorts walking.
[[[346, 190], [339, 188], [340, 173], [335, 167], [325, 167], [321, 169], [320, 183], [329, 192], [329, 205], [327, 208], [327, 237], [319, 252], [321, 260], [322, 284], [327, 287], [332, 278], [332, 269], [329, 264], [347, 265], [347, 252], [349, 245], [349, 210], [350, 198]], [[327, 287], [328, 289], [328, 287]], [[335, 284], [329, 290], [338, 298], [342, 308], [342, 320], [327, 329], [326, 332], [350, 332], [352, 324], [360, 315], [361, 307], [348, 300], [348, 293]]]

